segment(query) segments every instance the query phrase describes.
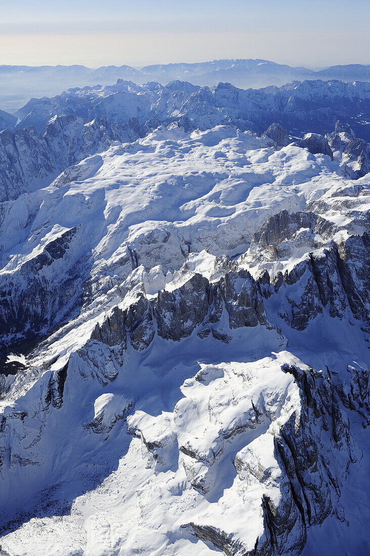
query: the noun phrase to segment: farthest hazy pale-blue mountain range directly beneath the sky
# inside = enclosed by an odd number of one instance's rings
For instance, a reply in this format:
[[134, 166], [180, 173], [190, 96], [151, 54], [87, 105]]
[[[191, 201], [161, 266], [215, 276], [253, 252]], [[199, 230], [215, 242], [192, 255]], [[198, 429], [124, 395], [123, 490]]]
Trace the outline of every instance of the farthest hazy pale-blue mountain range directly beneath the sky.
[[[370, 64], [332, 66], [320, 71], [290, 67], [263, 59], [228, 59], [201, 63], [156, 64], [137, 69], [130, 66], [0, 66], [0, 107], [15, 112], [32, 97], [55, 96], [71, 87], [108, 85], [117, 79], [139, 85], [156, 81], [190, 81], [194, 85], [213, 86], [229, 82], [239, 88], [282, 86], [306, 79], [369, 81]], [[1, 118], [0, 113], [0, 118]]]

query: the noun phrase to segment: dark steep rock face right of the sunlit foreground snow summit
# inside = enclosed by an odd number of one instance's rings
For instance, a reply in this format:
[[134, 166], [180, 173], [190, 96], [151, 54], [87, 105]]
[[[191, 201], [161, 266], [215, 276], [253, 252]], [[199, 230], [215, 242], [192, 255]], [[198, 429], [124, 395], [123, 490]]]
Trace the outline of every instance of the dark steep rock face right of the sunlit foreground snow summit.
[[[289, 479], [301, 526], [307, 529], [322, 523], [341, 495], [340, 484], [345, 474], [336, 475], [330, 465], [336, 459], [336, 451], [346, 453], [348, 461], [356, 461], [358, 448], [353, 444], [348, 416], [329, 369], [302, 370], [283, 365], [283, 370], [293, 374], [297, 381], [302, 410], [299, 424], [297, 415], [293, 414], [275, 435], [275, 452]], [[330, 448], [324, 450], [323, 446]], [[285, 513], [285, 519], [288, 515]]]

